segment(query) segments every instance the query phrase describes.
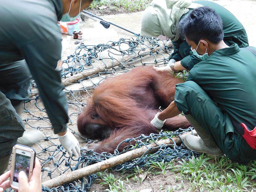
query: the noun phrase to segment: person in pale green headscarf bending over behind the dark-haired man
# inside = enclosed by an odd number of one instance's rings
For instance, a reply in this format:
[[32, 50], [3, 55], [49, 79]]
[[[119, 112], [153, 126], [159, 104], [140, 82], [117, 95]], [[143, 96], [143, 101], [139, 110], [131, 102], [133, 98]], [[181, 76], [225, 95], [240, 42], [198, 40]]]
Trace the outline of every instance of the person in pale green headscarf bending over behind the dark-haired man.
[[215, 2], [191, 0], [153, 0], [142, 15], [141, 35], [171, 39], [174, 50], [167, 66], [155, 67], [156, 70], [180, 71], [192, 69], [201, 60], [191, 52], [191, 46], [185, 38], [180, 37], [178, 25], [182, 18], [194, 8], [209, 6], [220, 15], [223, 22], [224, 42], [230, 46], [248, 47], [248, 38], [242, 23], [227, 9]]

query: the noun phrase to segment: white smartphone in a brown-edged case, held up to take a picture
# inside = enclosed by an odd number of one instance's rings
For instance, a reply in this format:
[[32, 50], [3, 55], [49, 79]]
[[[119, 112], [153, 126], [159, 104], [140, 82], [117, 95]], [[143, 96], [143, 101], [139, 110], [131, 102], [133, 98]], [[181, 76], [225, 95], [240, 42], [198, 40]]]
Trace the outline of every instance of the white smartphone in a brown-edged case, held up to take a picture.
[[10, 186], [19, 190], [19, 172], [25, 171], [28, 181], [35, 167], [35, 149], [24, 145], [14, 145], [12, 148]]

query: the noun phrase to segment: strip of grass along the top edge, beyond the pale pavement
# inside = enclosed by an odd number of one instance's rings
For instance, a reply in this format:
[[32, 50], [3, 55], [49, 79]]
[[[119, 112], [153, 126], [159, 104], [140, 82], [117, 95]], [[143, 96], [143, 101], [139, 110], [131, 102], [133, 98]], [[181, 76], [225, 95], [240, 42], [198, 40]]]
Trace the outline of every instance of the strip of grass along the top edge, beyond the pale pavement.
[[101, 10], [101, 6], [107, 6], [112, 9], [124, 9], [126, 11], [140, 11], [145, 10], [151, 0], [95, 0], [90, 5], [89, 9], [99, 8]]

